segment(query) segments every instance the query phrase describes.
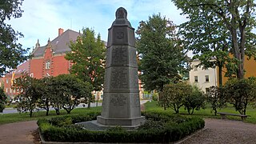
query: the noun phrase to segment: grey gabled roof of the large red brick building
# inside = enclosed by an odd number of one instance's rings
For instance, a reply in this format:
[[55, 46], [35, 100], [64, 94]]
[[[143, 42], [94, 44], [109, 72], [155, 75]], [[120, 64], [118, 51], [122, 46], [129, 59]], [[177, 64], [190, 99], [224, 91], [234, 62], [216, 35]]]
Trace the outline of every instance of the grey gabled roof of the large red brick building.
[[[63, 34], [59, 35], [53, 41], [50, 42], [51, 49], [55, 54], [65, 53], [70, 51], [70, 41], [75, 41], [78, 38], [79, 33], [74, 30], [66, 30]], [[36, 47], [32, 54], [33, 57], [43, 56], [46, 50], [46, 46]]]

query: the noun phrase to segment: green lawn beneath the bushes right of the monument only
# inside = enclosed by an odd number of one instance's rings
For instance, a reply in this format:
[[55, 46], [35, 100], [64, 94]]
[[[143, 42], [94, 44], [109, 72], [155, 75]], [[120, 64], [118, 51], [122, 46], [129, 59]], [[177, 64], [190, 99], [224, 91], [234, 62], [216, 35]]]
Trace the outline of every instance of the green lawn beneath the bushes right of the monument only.
[[[163, 110], [163, 107], [158, 106], [157, 102], [146, 102], [145, 104], [145, 110]], [[174, 114], [174, 110], [168, 108], [166, 109], [167, 113]], [[182, 115], [188, 115], [187, 111], [184, 109], [184, 107], [181, 107], [179, 109], [180, 114]], [[234, 107], [229, 105], [225, 108], [218, 109], [218, 112], [227, 112], [231, 114], [239, 114], [238, 111], [234, 110]], [[250, 115], [250, 117], [246, 118], [245, 122], [250, 122], [256, 124], [256, 109], [254, 109], [252, 106], [248, 106], [246, 109], [246, 115]], [[211, 110], [210, 105], [206, 105], [206, 109], [200, 109], [200, 110], [194, 110], [194, 114], [192, 116], [198, 116], [202, 118], [221, 118], [219, 114], [217, 116], [214, 115], [214, 111]], [[228, 119], [231, 120], [240, 120], [240, 117], [234, 117], [234, 116], [227, 116]]]

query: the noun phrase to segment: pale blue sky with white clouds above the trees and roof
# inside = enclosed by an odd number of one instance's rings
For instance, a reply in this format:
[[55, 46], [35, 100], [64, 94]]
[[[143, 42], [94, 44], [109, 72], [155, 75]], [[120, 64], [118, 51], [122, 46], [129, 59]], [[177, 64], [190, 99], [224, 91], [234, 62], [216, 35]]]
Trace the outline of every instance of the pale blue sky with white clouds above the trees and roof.
[[92, 28], [106, 41], [115, 11], [121, 6], [127, 10], [127, 18], [135, 30], [139, 22], [148, 20], [152, 14], [160, 13], [175, 25], [187, 21], [170, 0], [25, 0], [21, 6], [22, 17], [7, 23], [22, 32], [24, 38], [18, 42], [31, 50], [38, 39], [40, 45], [45, 46], [49, 38], [56, 38], [58, 28], [77, 32]]

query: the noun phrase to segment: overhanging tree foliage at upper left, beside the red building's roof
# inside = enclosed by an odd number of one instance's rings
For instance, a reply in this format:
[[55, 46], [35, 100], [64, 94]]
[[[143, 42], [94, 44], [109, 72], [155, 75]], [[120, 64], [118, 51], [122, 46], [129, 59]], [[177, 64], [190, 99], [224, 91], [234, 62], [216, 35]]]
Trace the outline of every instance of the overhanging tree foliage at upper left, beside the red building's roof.
[[15, 31], [10, 24], [10, 18], [22, 17], [21, 10], [23, 0], [1, 0], [0, 4], [0, 75], [10, 69], [15, 69], [18, 64], [24, 62], [28, 57], [25, 56], [26, 51], [22, 49], [22, 45], [17, 43], [18, 38], [23, 37], [21, 33]]

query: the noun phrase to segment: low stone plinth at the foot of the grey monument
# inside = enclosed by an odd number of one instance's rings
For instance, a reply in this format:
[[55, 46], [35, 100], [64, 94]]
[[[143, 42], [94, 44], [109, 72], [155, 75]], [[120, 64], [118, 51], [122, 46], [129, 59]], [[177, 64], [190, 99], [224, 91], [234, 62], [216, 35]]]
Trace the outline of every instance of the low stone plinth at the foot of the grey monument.
[[97, 117], [97, 122], [102, 126], [140, 126], [145, 122], [145, 117], [138, 118], [104, 118]]

